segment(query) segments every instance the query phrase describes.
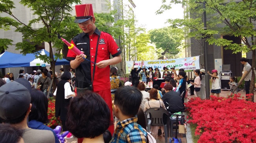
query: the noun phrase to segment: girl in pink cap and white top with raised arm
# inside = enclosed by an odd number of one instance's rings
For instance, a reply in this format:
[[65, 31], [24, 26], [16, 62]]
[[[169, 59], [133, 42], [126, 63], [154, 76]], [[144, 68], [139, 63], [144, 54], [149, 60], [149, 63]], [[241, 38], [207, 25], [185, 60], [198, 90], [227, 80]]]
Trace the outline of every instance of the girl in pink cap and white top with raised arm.
[[[207, 72], [210, 74], [210, 72]], [[217, 97], [219, 97], [219, 93], [221, 93], [221, 86], [219, 85], [220, 78], [218, 76], [218, 71], [216, 69], [211, 71], [211, 95], [216, 93]]]

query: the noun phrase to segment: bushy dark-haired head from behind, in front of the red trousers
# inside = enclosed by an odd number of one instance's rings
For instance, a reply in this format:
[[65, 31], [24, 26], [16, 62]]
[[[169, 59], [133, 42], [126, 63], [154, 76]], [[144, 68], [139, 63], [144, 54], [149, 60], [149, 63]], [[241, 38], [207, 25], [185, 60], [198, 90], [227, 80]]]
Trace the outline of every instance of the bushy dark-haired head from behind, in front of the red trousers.
[[104, 143], [109, 124], [110, 110], [99, 94], [85, 91], [70, 101], [66, 126], [75, 137], [83, 138], [83, 143]]

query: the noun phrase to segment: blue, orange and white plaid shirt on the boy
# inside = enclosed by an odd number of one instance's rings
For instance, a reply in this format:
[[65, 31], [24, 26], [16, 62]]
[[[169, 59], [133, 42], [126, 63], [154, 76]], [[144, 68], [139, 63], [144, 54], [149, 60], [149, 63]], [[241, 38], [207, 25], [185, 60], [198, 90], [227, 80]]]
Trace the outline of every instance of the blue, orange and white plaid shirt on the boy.
[[138, 118], [129, 118], [117, 123], [109, 143], [146, 143], [147, 131], [137, 124]]

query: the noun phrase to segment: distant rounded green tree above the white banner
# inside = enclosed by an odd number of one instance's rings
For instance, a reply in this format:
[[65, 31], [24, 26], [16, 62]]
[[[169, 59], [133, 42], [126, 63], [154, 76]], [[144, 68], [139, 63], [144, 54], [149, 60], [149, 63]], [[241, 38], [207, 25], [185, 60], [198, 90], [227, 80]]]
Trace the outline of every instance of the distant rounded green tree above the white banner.
[[178, 54], [178, 47], [184, 39], [184, 32], [182, 29], [174, 29], [171, 27], [163, 27], [160, 29], [153, 29], [148, 31], [150, 33], [150, 40], [156, 45], [156, 48], [163, 49], [161, 55]]

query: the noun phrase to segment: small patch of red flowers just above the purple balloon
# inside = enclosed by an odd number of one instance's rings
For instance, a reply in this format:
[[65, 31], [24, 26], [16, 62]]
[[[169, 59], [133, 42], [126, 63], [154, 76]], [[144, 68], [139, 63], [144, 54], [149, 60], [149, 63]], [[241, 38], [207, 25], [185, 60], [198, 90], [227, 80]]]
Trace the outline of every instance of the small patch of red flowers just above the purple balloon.
[[55, 117], [55, 100], [51, 97], [48, 99], [48, 119], [50, 123], [47, 124], [48, 127], [55, 129], [56, 126], [61, 125], [61, 120]]

